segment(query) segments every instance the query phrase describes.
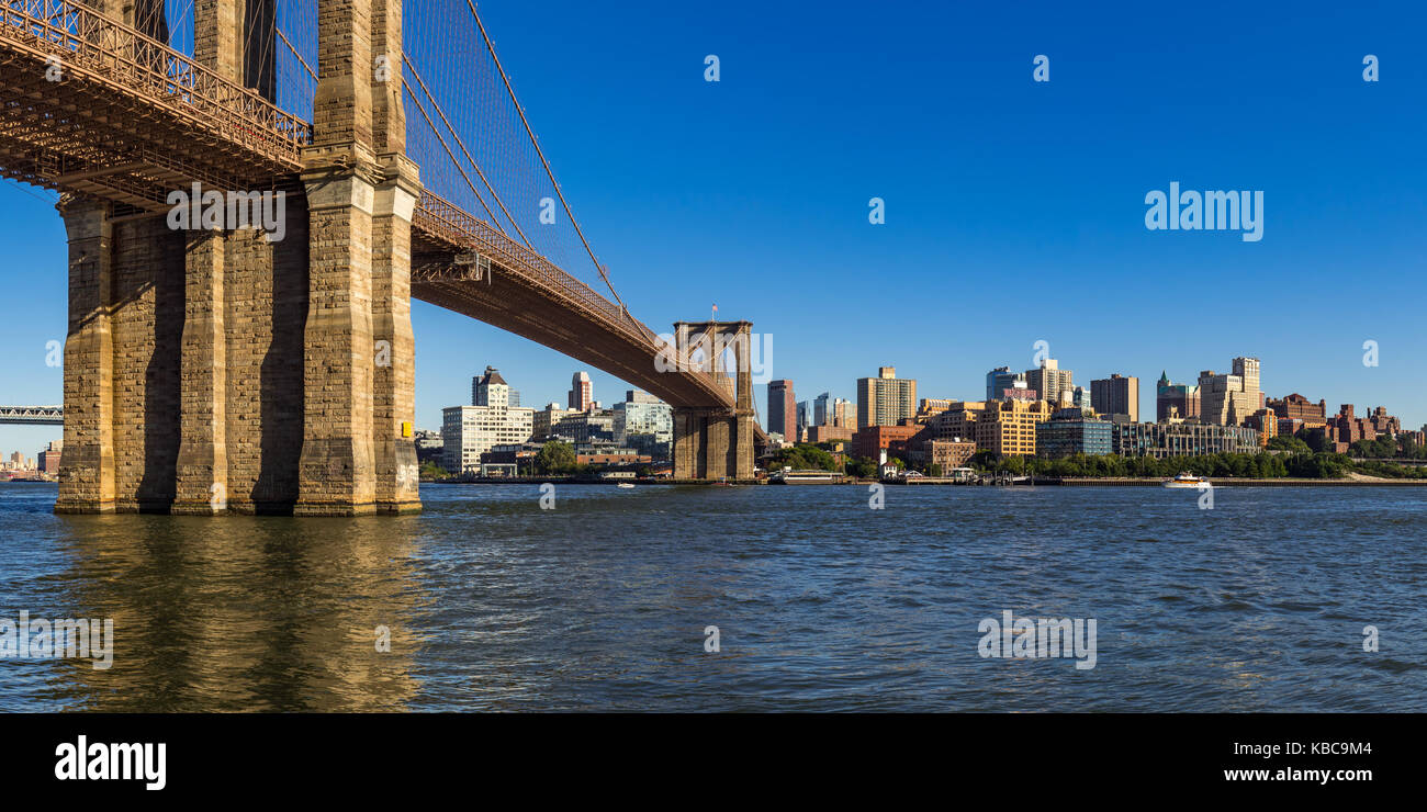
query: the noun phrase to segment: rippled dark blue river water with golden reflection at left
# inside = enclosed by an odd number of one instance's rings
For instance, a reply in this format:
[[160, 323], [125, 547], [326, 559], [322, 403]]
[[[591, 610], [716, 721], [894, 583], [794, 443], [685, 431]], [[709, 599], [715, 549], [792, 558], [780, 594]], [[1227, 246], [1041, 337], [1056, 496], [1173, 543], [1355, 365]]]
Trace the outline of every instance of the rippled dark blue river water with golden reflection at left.
[[[107, 669], [0, 659], [0, 709], [1427, 711], [1427, 489], [541, 495], [57, 517], [0, 485], [0, 618], [114, 621]], [[1093, 619], [1095, 666], [982, 656], [1006, 611]]]

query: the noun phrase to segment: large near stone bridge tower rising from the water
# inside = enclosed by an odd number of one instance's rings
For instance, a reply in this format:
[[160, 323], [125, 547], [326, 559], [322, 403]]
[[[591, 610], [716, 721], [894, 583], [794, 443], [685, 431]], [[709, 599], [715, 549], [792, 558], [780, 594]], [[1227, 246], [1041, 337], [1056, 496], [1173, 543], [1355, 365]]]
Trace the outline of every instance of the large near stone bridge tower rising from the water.
[[[163, 0], [94, 0], [161, 41]], [[274, 0], [195, 0], [200, 64], [273, 100]], [[160, 13], [156, 13], [156, 9]], [[56, 512], [417, 511], [401, 0], [321, 0], [314, 138], [284, 235], [66, 194]], [[267, 47], [261, 47], [267, 44]], [[264, 191], [264, 190], [215, 190]]]

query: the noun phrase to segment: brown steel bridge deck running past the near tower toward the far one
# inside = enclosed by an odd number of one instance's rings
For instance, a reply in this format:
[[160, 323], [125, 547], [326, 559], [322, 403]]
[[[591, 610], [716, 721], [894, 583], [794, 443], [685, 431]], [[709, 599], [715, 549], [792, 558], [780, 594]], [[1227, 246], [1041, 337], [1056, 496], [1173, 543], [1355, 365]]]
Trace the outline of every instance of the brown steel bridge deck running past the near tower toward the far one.
[[[46, 74], [57, 57], [60, 80]], [[50, 63], [53, 64], [53, 63]], [[161, 213], [167, 194], [300, 190], [311, 124], [98, 11], [0, 0], [0, 174]], [[422, 193], [412, 295], [585, 361], [679, 407], [732, 408], [732, 380], [658, 371], [658, 337], [499, 228]], [[477, 258], [478, 257], [478, 258]], [[461, 261], [475, 258], [475, 265]], [[475, 268], [489, 263], [478, 275]]]

